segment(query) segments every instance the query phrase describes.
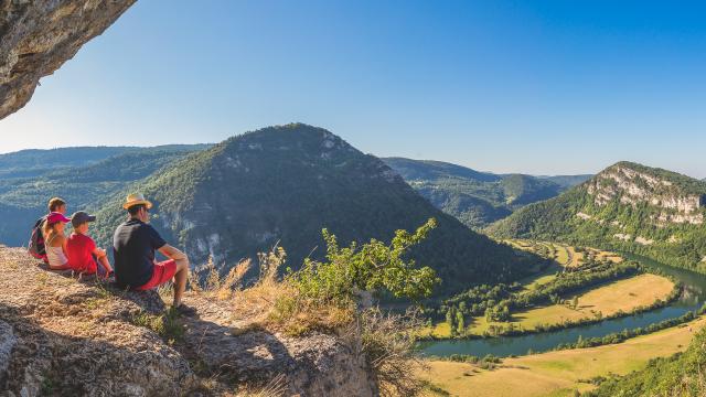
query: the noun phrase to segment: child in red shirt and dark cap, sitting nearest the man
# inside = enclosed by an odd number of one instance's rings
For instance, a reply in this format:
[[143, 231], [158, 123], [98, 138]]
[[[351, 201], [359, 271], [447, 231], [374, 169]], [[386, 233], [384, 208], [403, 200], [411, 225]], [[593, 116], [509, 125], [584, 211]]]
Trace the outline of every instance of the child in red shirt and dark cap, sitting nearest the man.
[[66, 251], [68, 253], [68, 266], [74, 270], [84, 275], [95, 275], [98, 270], [96, 259], [105, 270], [105, 277], [113, 273], [113, 268], [108, 261], [105, 249], [96, 247], [93, 238], [88, 237], [88, 223], [96, 221], [96, 217], [79, 211], [72, 215], [71, 224], [74, 226], [74, 233], [71, 234], [66, 242]]

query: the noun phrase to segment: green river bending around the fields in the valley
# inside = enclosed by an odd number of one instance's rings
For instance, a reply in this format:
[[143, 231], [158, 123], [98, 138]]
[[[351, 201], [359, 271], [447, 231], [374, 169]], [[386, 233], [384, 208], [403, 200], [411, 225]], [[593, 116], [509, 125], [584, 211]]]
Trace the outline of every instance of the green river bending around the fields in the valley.
[[631, 254], [622, 255], [628, 259], [639, 260], [648, 267], [660, 269], [662, 272], [673, 276], [684, 283], [684, 293], [678, 300], [665, 308], [641, 314], [606, 320], [590, 325], [521, 336], [429, 341], [420, 344], [420, 353], [432, 356], [449, 356], [451, 354], [484, 356], [492, 354], [498, 357], [506, 357], [510, 355], [527, 354], [528, 351], [545, 352], [553, 350], [561, 343], [576, 342], [579, 336], [584, 339], [605, 336], [625, 329], [644, 328], [652, 323], [677, 318], [687, 311], [697, 310], [706, 301], [706, 276], [666, 266], [649, 258]]

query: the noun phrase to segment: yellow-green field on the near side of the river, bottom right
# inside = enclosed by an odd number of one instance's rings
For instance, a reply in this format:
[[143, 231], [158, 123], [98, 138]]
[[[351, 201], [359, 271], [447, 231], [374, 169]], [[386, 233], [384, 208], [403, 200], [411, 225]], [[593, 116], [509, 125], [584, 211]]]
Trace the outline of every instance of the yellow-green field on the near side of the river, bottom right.
[[492, 371], [469, 363], [430, 361], [430, 371], [420, 376], [459, 397], [573, 396], [574, 390], [595, 387], [581, 380], [624, 375], [643, 368], [651, 358], [683, 352], [705, 325], [706, 318], [699, 318], [620, 344], [504, 358]]

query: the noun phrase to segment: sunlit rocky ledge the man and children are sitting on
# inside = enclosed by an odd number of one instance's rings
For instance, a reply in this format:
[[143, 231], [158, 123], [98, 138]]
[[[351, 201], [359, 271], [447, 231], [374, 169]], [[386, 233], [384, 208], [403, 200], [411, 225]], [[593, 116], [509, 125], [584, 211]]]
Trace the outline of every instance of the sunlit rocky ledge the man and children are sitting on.
[[0, 247], [0, 389], [10, 396], [233, 395], [267, 385], [285, 396], [377, 394], [365, 358], [338, 336], [270, 333], [233, 320], [227, 301], [193, 293], [186, 303], [197, 314], [170, 334], [157, 292], [50, 272], [20, 248]]

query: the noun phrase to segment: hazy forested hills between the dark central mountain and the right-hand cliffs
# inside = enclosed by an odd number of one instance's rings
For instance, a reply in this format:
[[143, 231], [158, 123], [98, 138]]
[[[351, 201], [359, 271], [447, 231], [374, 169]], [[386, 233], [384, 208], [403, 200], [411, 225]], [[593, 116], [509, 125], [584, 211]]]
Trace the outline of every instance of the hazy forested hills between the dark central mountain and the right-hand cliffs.
[[584, 175], [499, 175], [441, 161], [383, 160], [437, 208], [477, 228], [586, 180]]

